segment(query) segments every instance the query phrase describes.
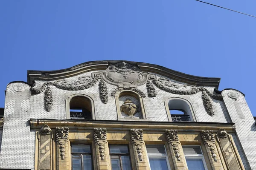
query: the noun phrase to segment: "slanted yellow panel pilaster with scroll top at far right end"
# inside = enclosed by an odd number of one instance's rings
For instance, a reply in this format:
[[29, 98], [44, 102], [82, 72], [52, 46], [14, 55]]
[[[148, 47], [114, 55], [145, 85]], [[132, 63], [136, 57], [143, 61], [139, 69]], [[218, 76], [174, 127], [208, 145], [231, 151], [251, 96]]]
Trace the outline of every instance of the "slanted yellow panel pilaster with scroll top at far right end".
[[[244, 170], [239, 158], [239, 153], [235, 149], [232, 139], [227, 134], [226, 130], [219, 129], [217, 133], [217, 142], [221, 146], [221, 152], [224, 155], [224, 160], [228, 170]], [[240, 160], [239, 160], [240, 159]]]

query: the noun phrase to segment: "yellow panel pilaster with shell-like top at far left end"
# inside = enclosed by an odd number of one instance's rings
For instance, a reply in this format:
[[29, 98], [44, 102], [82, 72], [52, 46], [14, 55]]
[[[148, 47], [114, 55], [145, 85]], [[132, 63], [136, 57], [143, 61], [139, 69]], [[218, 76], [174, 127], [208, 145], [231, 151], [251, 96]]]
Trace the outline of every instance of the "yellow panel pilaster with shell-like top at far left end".
[[37, 133], [38, 170], [52, 170], [52, 130], [44, 125]]

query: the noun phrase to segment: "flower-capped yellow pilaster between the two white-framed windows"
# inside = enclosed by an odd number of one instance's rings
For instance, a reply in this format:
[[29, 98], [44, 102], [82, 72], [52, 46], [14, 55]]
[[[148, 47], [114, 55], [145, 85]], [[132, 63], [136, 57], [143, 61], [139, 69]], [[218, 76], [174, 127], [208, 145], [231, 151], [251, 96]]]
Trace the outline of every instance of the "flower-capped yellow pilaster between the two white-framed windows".
[[175, 170], [188, 170], [183, 149], [179, 141], [178, 130], [166, 130], [165, 134]]

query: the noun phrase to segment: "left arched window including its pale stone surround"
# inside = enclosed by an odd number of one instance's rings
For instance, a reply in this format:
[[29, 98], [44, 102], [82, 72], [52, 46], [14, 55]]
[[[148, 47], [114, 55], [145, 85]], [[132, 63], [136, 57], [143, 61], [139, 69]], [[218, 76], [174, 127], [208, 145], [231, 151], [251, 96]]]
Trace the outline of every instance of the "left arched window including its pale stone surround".
[[66, 100], [67, 119], [95, 119], [94, 104], [90, 96], [75, 94]]

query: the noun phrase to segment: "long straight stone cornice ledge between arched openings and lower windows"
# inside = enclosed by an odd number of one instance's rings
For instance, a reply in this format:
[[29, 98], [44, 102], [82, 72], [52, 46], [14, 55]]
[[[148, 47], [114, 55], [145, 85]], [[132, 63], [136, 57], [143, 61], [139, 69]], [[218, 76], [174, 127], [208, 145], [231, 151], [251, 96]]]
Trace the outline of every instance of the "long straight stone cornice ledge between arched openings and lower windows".
[[201, 132], [201, 130], [213, 130], [218, 132], [224, 128], [227, 133], [235, 133], [233, 123], [212, 122], [130, 122], [130, 121], [100, 121], [100, 120], [55, 120], [55, 119], [30, 119], [31, 129], [40, 129], [43, 125], [50, 128], [69, 127], [72, 129], [107, 128], [108, 130], [130, 130], [131, 128], [143, 129], [145, 131], [164, 131], [166, 129], [177, 129], [179, 132]]

